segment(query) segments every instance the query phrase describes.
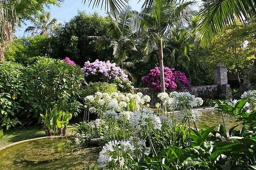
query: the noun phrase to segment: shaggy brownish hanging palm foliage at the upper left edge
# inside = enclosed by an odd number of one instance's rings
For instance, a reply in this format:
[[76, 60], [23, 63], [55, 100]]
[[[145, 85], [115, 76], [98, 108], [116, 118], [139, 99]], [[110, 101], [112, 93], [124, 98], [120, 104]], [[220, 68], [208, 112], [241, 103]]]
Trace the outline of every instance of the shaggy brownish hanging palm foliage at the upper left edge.
[[[19, 3], [15, 0], [14, 3]], [[0, 61], [4, 60], [4, 49], [13, 39], [13, 31], [18, 23], [16, 10], [8, 0], [0, 1]]]

